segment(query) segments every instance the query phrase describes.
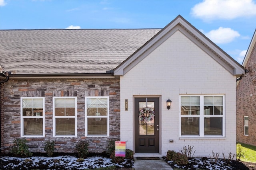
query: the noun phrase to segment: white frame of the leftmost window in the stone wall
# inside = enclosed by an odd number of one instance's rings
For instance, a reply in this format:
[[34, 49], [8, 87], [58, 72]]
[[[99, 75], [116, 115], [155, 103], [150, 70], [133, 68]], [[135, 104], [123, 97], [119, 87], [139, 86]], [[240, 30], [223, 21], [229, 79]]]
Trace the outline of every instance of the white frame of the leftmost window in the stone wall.
[[[42, 116], [23, 116], [23, 99], [42, 99], [43, 100], [43, 112]], [[44, 137], [45, 135], [45, 114], [44, 114], [44, 97], [21, 97], [20, 98], [20, 136], [21, 137]], [[43, 134], [42, 135], [24, 135], [23, 119], [43, 119]]]

